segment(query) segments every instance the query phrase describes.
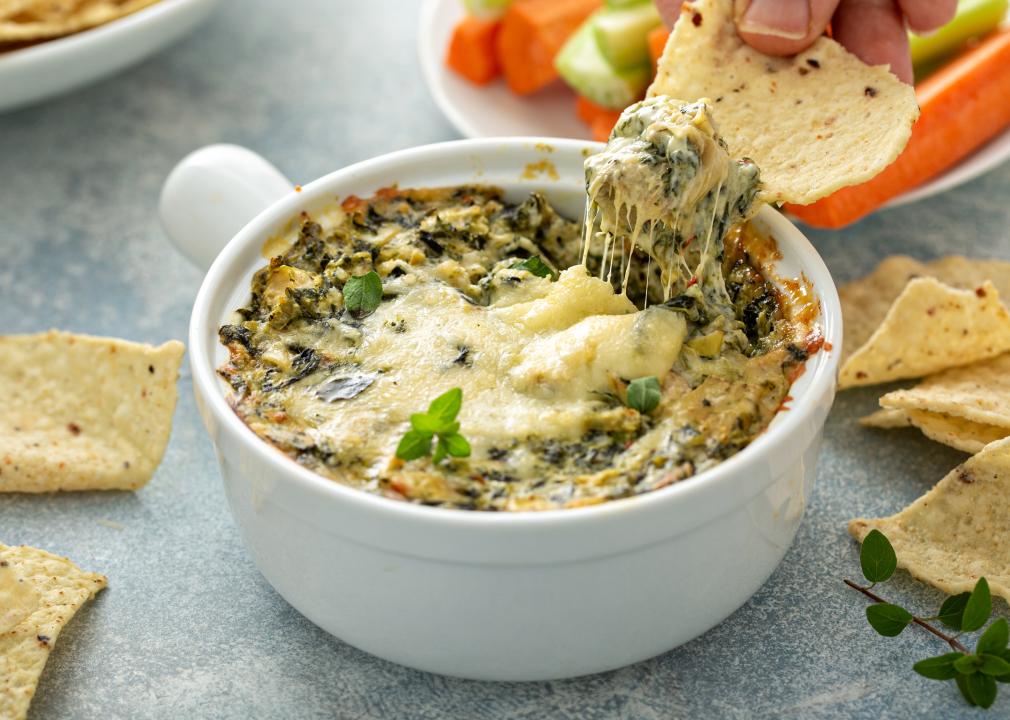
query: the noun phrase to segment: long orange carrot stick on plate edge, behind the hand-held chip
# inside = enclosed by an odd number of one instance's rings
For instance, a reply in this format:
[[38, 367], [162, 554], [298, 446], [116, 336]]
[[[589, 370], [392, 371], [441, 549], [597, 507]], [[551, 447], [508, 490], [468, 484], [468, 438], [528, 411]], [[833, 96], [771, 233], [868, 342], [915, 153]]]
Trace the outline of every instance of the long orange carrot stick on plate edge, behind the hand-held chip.
[[1010, 125], [1010, 30], [997, 31], [915, 89], [912, 137], [873, 180], [787, 206], [814, 227], [842, 227], [957, 164]]

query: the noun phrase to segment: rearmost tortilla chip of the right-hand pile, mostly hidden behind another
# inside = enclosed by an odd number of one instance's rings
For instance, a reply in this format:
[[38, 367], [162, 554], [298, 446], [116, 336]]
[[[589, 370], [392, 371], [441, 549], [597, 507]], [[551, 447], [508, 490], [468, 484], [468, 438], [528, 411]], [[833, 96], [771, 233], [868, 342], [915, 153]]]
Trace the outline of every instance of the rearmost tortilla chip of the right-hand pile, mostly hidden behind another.
[[862, 280], [838, 288], [842, 325], [845, 328], [841, 364], [874, 334], [891, 305], [913, 278], [936, 278], [962, 290], [975, 289], [987, 280], [1003, 298], [1010, 298], [1010, 263], [968, 260], [949, 255], [920, 263], [907, 255], [892, 255]]

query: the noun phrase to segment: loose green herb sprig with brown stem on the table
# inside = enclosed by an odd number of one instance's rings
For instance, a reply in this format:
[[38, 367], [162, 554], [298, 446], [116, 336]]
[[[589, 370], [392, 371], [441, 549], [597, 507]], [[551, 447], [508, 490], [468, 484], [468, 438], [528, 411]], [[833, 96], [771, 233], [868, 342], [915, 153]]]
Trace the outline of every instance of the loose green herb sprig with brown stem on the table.
[[[1010, 649], [1007, 648], [1010, 624], [1005, 618], [990, 624], [976, 642], [975, 652], [957, 639], [966, 632], [981, 630], [992, 614], [992, 596], [986, 579], [979, 578], [970, 593], [948, 597], [936, 615], [918, 617], [899, 605], [888, 603], [871, 590], [878, 583], [889, 580], [898, 567], [894, 547], [880, 530], [871, 530], [864, 538], [860, 565], [870, 585], [862, 586], [850, 580], [844, 583], [874, 601], [867, 607], [871, 627], [881, 635], [894, 637], [915, 624], [944, 640], [951, 652], [919, 660], [912, 670], [929, 680], [952, 680], [969, 705], [990, 707], [996, 701], [996, 684], [1010, 683]], [[954, 630], [954, 634], [933, 625], [936, 620]]]

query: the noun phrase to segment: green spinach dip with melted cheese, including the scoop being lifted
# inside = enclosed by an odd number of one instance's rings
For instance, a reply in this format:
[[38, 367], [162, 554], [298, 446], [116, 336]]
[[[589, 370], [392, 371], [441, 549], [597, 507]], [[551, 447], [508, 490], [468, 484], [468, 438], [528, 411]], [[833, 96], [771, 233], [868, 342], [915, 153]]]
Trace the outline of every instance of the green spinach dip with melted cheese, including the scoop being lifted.
[[235, 412], [322, 476], [470, 510], [629, 497], [745, 447], [820, 346], [746, 221], [758, 169], [703, 101], [655, 97], [586, 170], [584, 221], [479, 186], [303, 214], [220, 328]]

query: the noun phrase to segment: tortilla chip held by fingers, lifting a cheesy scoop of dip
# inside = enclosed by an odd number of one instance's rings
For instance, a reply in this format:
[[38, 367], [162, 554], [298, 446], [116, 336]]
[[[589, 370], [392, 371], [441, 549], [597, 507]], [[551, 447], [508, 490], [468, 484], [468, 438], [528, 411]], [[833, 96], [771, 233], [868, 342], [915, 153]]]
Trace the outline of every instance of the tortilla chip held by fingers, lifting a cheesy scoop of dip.
[[736, 158], [761, 168], [766, 202], [812, 203], [894, 162], [919, 115], [915, 92], [827, 37], [773, 58], [736, 34], [732, 0], [685, 2], [648, 95], [711, 98]]

